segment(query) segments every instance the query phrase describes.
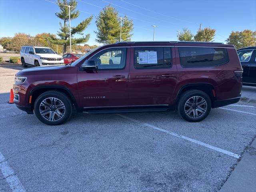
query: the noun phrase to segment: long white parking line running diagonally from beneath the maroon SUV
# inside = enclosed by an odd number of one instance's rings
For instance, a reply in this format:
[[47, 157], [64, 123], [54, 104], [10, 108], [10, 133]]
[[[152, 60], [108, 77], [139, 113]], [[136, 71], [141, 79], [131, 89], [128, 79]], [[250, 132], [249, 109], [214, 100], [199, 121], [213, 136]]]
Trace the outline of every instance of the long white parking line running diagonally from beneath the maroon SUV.
[[130, 117], [121, 115], [121, 114], [116, 114], [116, 115], [118, 115], [118, 116], [120, 116], [120, 117], [122, 117], [122, 118], [128, 119], [128, 120], [130, 120], [130, 121], [132, 121], [132, 122], [141, 124], [141, 125], [143, 125], [143, 126], [147, 126], [147, 127], [156, 129], [156, 130], [158, 130], [158, 131], [161, 131], [161, 132], [170, 134], [170, 135], [172, 135], [172, 136], [175, 136], [175, 137], [178, 137], [178, 138], [182, 138], [182, 139], [184, 139], [184, 140], [187, 140], [187, 141], [196, 143], [196, 144], [198, 144], [198, 145], [201, 145], [201, 146], [210, 148], [210, 149], [212, 149], [212, 150], [215, 150], [215, 151], [218, 151], [218, 152], [227, 154], [227, 155], [232, 156], [232, 157], [234, 157], [234, 158], [237, 158], [237, 159], [240, 158], [240, 155], [238, 155], [238, 154], [235, 154], [235, 153], [232, 153], [232, 152], [230, 152], [230, 151], [227, 151], [227, 150], [224, 150], [224, 149], [221, 149], [221, 148], [218, 148], [218, 147], [209, 145], [209, 144], [207, 144], [207, 143], [204, 143], [204, 142], [201, 142], [201, 141], [198, 141], [198, 140], [195, 140], [195, 139], [192, 139], [192, 138], [189, 138], [189, 137], [186, 137], [186, 136], [183, 136], [183, 135], [174, 133], [174, 132], [167, 131], [167, 130], [165, 130], [165, 129], [156, 127], [156, 126], [154, 126], [154, 125], [150, 125], [150, 124], [148, 124], [148, 123], [144, 123], [144, 122], [138, 121], [138, 120], [136, 120], [136, 119], [133, 119], [133, 118], [130, 118]]

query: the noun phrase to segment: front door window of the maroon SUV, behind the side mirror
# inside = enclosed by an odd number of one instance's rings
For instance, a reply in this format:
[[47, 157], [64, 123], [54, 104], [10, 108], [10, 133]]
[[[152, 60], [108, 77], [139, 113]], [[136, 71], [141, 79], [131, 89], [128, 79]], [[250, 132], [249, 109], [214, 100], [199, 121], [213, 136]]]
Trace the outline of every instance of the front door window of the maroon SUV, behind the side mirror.
[[[116, 55], [120, 54], [119, 57]], [[126, 63], [126, 48], [110, 48], [94, 55], [92, 60], [98, 69], [122, 69]]]

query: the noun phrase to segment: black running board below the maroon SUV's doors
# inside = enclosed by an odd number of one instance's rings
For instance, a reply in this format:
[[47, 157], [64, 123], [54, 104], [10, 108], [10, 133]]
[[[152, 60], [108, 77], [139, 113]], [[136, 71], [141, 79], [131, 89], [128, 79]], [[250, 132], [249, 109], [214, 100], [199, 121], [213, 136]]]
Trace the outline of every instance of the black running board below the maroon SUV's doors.
[[122, 108], [122, 109], [87, 109], [84, 113], [106, 114], [106, 113], [134, 113], [134, 112], [159, 112], [167, 111], [169, 108]]

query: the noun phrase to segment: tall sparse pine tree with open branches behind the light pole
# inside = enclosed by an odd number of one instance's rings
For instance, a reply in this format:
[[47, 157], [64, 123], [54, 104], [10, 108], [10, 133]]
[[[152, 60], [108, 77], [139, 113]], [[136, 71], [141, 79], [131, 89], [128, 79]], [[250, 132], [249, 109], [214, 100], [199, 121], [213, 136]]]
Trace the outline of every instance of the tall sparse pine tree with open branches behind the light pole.
[[[58, 6], [60, 7], [60, 12], [56, 13], [56, 16], [63, 20], [63, 24], [60, 23], [60, 31], [58, 31], [57, 35], [60, 38], [54, 38], [54, 36], [50, 36], [52, 38], [52, 42], [58, 45], [63, 45], [63, 52], [66, 52], [67, 46], [70, 44], [69, 39], [69, 11], [68, 7], [64, 5], [70, 5], [76, 7], [77, 2], [76, 0], [58, 0], [57, 2]], [[75, 8], [70, 8], [70, 20], [73, 20], [75, 18], [78, 18], [79, 11], [75, 10]], [[81, 44], [85, 43], [89, 40], [90, 34], [86, 34], [85, 36], [82, 36], [81, 38], [74, 38], [75, 34], [84, 35], [83, 31], [87, 28], [87, 26], [90, 24], [92, 20], [92, 16], [89, 18], [83, 20], [80, 22], [76, 27], [71, 27], [71, 44]]]

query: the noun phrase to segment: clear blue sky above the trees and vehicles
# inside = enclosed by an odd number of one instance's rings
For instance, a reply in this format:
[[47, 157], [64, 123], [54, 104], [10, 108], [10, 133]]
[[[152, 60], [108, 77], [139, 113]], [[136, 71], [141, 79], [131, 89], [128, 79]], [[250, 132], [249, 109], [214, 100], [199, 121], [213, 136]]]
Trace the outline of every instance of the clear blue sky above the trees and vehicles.
[[[56, 2], [55, 0], [50, 1]], [[71, 21], [71, 26], [76, 26], [90, 14], [98, 15], [101, 10], [99, 7], [106, 6], [108, 4], [106, 1], [108, 1], [118, 10], [120, 16], [126, 14], [130, 18], [133, 17], [131, 18], [134, 22], [132, 41], [152, 40], [153, 27], [151, 25], [158, 26], [155, 34], [157, 41], [177, 40], [177, 31], [184, 27], [189, 28], [195, 34], [200, 23], [202, 28], [216, 29], [214, 39], [216, 42], [224, 42], [232, 30], [256, 30], [256, 0], [77, 1], [78, 10], [83, 12], [80, 12], [80, 16]], [[32, 36], [42, 32], [56, 34], [59, 30], [59, 22], [61, 22], [55, 16], [58, 11], [59, 8], [56, 4], [46, 0], [0, 0], [0, 37], [12, 37], [16, 32], [24, 32]], [[93, 18], [84, 31], [85, 34], [91, 35], [88, 41], [90, 45], [98, 44], [95, 42], [95, 30], [97, 28], [95, 18]]]

